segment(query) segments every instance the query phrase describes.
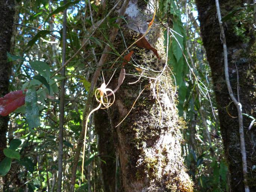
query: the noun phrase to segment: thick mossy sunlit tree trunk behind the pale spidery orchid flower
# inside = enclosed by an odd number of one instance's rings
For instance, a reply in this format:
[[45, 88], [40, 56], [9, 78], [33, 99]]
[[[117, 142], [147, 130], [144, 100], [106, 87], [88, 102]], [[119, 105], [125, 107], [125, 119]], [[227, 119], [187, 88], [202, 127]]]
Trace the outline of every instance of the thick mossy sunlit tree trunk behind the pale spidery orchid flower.
[[[137, 4], [136, 1], [130, 1], [126, 10], [128, 28], [122, 31], [127, 46], [138, 38], [137, 27], [140, 28], [141, 32], [145, 32], [148, 26], [146, 21], [152, 19], [152, 11], [148, 12], [151, 15], [148, 18], [145, 18], [143, 14], [140, 15], [139, 10], [145, 10], [147, 7], [144, 1], [138, 2]], [[138, 21], [138, 19], [140, 20]], [[138, 23], [143, 23], [144, 26]], [[154, 25], [154, 28], [151, 28], [151, 32], [146, 38], [154, 45], [153, 47], [158, 49], [158, 54], [163, 58], [163, 61], [157, 60], [152, 51], [139, 48], [136, 45], [130, 49], [134, 51], [132, 57], [139, 65], [147, 66], [155, 71], [161, 71], [165, 65], [166, 51], [163, 46], [163, 33]], [[119, 53], [125, 50], [121, 34], [117, 36], [113, 44]], [[113, 55], [110, 57], [110, 61], [115, 61], [115, 59]], [[117, 65], [115, 64], [114, 68]], [[104, 148], [99, 145], [100, 151], [104, 151], [105, 147], [113, 149], [112, 152], [105, 151], [108, 154], [112, 154], [111, 156], [113, 157], [115, 147], [118, 149], [121, 181], [115, 182], [121, 183], [119, 191], [192, 191], [192, 182], [186, 173], [181, 156], [181, 142], [183, 141], [181, 128], [184, 127], [185, 123], [178, 116], [173, 85], [170, 82], [168, 84], [166, 79], [168, 78], [170, 81], [169, 75], [166, 74], [165, 76], [165, 73], [163, 73], [159, 78], [159, 83], [156, 83], [155, 93], [158, 95], [163, 109], [163, 112], [160, 112], [158, 101], [154, 97], [152, 89], [155, 80], [142, 77], [138, 83], [128, 84], [138, 80], [138, 77], [128, 74], [139, 75], [139, 72], [132, 64], [127, 64], [125, 69], [126, 78], [120, 89], [115, 93], [115, 102], [109, 108], [109, 115], [106, 115], [104, 110], [99, 110], [96, 116], [101, 118], [95, 118], [95, 127], [100, 136], [100, 142], [105, 143]], [[107, 72], [104, 73], [107, 76], [105, 77], [106, 81], [109, 80], [112, 73], [113, 71], [108, 72], [108, 74]], [[112, 90], [117, 87], [119, 73], [120, 69], [117, 69], [108, 86]], [[160, 73], [151, 71], [144, 72], [144, 75], [155, 78]], [[127, 115], [133, 102], [143, 89], [145, 90], [139, 96], [130, 114], [120, 126], [117, 126]], [[158, 127], [161, 119], [160, 114], [163, 119], [161, 120], [161, 126]], [[115, 147], [112, 147], [113, 145]], [[108, 172], [111, 172], [109, 174], [113, 177], [115, 169], [113, 168], [113, 162], [110, 163], [111, 168], [109, 168]], [[109, 181], [105, 180], [105, 182]], [[111, 185], [111, 183], [105, 184]], [[111, 188], [111, 191], [114, 191], [113, 188]]]

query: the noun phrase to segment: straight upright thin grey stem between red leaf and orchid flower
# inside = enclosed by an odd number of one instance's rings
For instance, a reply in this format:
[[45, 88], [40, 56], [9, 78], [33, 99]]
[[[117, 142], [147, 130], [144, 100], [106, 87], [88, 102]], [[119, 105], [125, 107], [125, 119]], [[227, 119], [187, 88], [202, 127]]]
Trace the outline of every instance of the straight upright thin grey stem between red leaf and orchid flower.
[[[64, 2], [65, 3], [65, 2]], [[67, 34], [67, 9], [63, 12], [63, 31], [62, 31], [62, 66], [66, 58], [66, 34]], [[61, 75], [65, 76], [65, 67], [61, 69]], [[62, 185], [62, 161], [63, 161], [63, 127], [64, 127], [64, 99], [65, 99], [65, 79], [61, 81], [61, 95], [59, 103], [59, 161], [58, 161], [58, 188], [61, 192]]]

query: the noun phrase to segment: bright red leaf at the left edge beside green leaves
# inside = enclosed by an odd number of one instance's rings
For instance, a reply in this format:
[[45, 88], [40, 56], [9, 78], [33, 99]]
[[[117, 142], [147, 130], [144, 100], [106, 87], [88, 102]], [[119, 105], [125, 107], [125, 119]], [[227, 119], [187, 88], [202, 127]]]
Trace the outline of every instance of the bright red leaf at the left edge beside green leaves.
[[[26, 91], [26, 90], [24, 90]], [[4, 97], [0, 97], [0, 115], [7, 116], [18, 107], [24, 105], [25, 94], [22, 90], [10, 92]]]

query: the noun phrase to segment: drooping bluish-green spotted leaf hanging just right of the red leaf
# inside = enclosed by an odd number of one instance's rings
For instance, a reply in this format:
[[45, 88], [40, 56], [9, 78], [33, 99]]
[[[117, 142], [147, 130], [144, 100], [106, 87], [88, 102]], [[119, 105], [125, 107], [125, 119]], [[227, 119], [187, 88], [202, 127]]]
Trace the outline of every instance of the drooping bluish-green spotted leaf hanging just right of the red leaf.
[[31, 86], [26, 92], [25, 105], [26, 105], [25, 116], [28, 122], [28, 127], [30, 128], [39, 127], [40, 126], [39, 109], [37, 106], [36, 88], [34, 86]]

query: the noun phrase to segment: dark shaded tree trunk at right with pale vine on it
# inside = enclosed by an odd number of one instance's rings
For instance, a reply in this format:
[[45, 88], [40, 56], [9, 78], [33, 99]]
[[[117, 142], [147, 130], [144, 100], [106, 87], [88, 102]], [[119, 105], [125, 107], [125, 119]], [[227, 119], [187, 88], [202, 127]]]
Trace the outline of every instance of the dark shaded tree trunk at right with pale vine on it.
[[[228, 161], [229, 173], [231, 176], [231, 191], [243, 192], [243, 169], [240, 151], [238, 118], [236, 118], [237, 109], [233, 103], [230, 103], [231, 99], [226, 87], [223, 46], [222, 42], [220, 41], [220, 27], [218, 18], [216, 17], [215, 1], [196, 0], [196, 3], [203, 44], [206, 48], [207, 60], [209, 61], [212, 70], [212, 78], [215, 85], [215, 95], [216, 102], [218, 104], [220, 129], [225, 149], [225, 155]], [[243, 1], [220, 1], [222, 17], [238, 7], [243, 7]], [[238, 71], [240, 93], [239, 97], [243, 107], [243, 113], [256, 117], [255, 37], [253, 35], [253, 30], [250, 30], [253, 25], [253, 17], [250, 18], [249, 14], [246, 16], [245, 14], [247, 11], [248, 10], [245, 9], [240, 10], [240, 12], [238, 12], [236, 15], [236, 17], [239, 17], [239, 15], [242, 15], [243, 18], [247, 17], [246, 22], [243, 22], [243, 27], [246, 29], [243, 35], [237, 36], [235, 34], [235, 27], [240, 29], [241, 26], [237, 25], [236, 22], [232, 19], [229, 19], [224, 23], [224, 28], [228, 47], [229, 78], [231, 81], [232, 90], [235, 94], [235, 97], [237, 98]], [[250, 23], [250, 21], [252, 22]], [[229, 107], [226, 108], [227, 106]], [[255, 127], [252, 127], [251, 130], [248, 130], [252, 119], [246, 116], [243, 117], [247, 165], [249, 169], [247, 185], [250, 186], [251, 191], [256, 191], [256, 172], [254, 168], [256, 165], [256, 131]]]

